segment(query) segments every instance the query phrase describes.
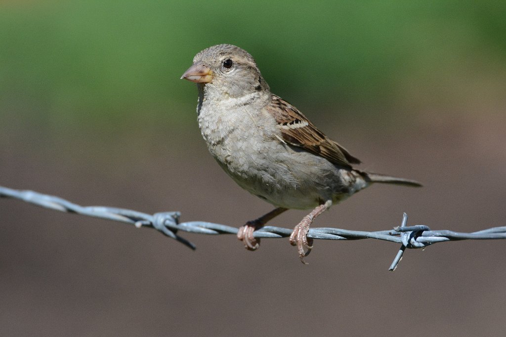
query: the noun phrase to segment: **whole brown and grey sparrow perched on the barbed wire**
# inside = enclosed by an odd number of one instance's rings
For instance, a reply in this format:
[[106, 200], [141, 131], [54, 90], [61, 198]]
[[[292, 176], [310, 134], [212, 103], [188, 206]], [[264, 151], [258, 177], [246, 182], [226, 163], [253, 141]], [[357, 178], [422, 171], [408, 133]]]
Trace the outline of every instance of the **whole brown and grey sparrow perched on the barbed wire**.
[[333, 203], [376, 182], [421, 186], [353, 168], [360, 160], [272, 94], [255, 60], [239, 47], [204, 49], [181, 78], [197, 83], [198, 124], [209, 152], [239, 186], [276, 206], [239, 229], [249, 250], [259, 247], [253, 232], [269, 220], [289, 208], [313, 209], [290, 235], [306, 263], [309, 226]]

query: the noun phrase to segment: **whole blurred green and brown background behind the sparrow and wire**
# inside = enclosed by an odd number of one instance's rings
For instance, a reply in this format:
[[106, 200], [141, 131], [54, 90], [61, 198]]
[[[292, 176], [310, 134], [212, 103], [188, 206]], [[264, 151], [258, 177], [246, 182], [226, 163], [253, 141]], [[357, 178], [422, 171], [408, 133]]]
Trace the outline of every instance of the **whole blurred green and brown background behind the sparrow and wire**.
[[[272, 206], [208, 154], [197, 93], [179, 80], [200, 50], [249, 51], [274, 93], [369, 171], [375, 185], [314, 227], [506, 225], [506, 6], [493, 1], [182, 5], [0, 4], [0, 185], [82, 205], [239, 227]], [[305, 212], [272, 222], [293, 227]], [[0, 200], [0, 334], [480, 335], [506, 332], [506, 241], [408, 250], [154, 230]]]

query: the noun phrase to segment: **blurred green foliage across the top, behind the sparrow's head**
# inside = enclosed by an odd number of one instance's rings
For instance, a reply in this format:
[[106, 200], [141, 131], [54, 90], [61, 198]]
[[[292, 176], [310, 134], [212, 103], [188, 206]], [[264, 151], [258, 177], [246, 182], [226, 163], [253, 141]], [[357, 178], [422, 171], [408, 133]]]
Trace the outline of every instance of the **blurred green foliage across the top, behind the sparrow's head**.
[[4, 1], [0, 116], [193, 120], [196, 92], [179, 77], [219, 43], [249, 51], [301, 108], [390, 104], [406, 83], [451, 96], [444, 74], [505, 73], [505, 18], [497, 1]]

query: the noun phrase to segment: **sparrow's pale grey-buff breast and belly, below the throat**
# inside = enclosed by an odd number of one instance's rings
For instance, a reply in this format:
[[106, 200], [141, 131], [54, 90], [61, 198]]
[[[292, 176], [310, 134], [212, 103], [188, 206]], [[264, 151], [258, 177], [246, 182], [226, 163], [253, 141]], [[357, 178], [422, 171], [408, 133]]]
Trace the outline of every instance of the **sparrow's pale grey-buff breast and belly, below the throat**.
[[348, 195], [340, 169], [281, 142], [275, 119], [265, 109], [206, 99], [199, 103], [198, 123], [223, 170], [278, 207], [306, 209]]

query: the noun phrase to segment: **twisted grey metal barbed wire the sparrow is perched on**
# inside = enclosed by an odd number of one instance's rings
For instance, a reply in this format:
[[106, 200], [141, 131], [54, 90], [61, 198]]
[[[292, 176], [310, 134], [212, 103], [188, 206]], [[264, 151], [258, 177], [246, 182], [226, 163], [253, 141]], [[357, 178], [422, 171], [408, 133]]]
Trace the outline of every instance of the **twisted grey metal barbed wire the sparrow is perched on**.
[[[210, 235], [237, 234], [238, 231], [235, 227], [204, 221], [180, 223], [180, 212], [162, 212], [150, 215], [137, 212], [136, 210], [117, 207], [80, 206], [57, 196], [29, 190], [14, 190], [2, 186], [0, 186], [0, 197], [23, 200], [41, 207], [59, 210], [60, 212], [133, 224], [138, 228], [151, 227], [185, 244], [191, 249], [195, 249], [195, 245], [177, 235], [178, 231]], [[340, 228], [311, 228], [307, 236], [313, 239], [324, 240], [377, 239], [401, 243], [401, 247], [389, 268], [392, 271], [397, 267], [406, 248], [425, 248], [433, 243], [455, 240], [506, 239], [506, 226], [488, 228], [472, 233], [461, 233], [450, 230], [433, 231], [425, 225], [406, 226], [406, 224], [407, 215], [404, 213], [401, 225], [391, 230], [365, 232]], [[265, 226], [256, 230], [254, 236], [256, 238], [282, 238], [290, 236], [291, 232], [292, 230], [288, 228]]]

